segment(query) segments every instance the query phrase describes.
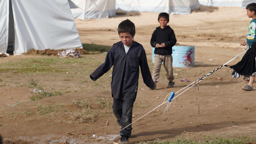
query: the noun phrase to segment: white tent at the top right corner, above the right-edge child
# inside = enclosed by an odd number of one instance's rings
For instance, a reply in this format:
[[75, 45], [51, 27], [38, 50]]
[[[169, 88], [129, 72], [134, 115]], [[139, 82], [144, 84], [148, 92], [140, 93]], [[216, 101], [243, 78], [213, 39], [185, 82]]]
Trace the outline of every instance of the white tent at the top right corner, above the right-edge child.
[[198, 0], [201, 5], [214, 6], [214, 7], [242, 7], [250, 3], [256, 2], [255, 0]]

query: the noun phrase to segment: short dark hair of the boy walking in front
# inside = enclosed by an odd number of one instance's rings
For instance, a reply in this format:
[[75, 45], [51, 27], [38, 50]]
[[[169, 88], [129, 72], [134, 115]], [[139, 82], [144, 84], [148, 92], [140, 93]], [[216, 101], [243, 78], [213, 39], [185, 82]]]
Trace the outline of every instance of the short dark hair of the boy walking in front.
[[132, 36], [135, 35], [135, 25], [132, 23], [130, 20], [123, 20], [121, 23], [118, 25], [118, 34], [120, 33], [129, 33]]

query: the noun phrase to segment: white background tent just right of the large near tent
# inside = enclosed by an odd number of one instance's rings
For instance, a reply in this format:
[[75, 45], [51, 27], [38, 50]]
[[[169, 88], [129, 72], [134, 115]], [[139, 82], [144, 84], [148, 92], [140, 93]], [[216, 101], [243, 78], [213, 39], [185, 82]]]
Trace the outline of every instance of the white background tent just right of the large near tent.
[[108, 18], [116, 15], [115, 0], [69, 0], [74, 18]]

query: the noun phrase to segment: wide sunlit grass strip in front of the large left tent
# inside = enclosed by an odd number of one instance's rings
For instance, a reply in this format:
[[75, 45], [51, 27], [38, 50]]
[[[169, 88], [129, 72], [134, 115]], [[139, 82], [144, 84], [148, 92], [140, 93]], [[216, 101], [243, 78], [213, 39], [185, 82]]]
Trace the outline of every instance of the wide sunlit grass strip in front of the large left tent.
[[[76, 63], [76, 65], [74, 65]], [[71, 70], [82, 67], [85, 63], [83, 58], [59, 58], [44, 57], [44, 58], [26, 58], [20, 61], [10, 61], [0, 63], [0, 72], [4, 73], [21, 73], [21, 74], [52, 74], [52, 73], [66, 73]], [[67, 67], [69, 65], [69, 67]]]

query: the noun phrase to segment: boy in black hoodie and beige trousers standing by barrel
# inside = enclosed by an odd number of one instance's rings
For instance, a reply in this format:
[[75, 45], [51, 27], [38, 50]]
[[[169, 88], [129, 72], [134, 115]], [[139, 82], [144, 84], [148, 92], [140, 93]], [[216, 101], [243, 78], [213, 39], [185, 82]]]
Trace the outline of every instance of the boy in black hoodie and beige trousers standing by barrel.
[[160, 26], [155, 29], [150, 40], [151, 46], [155, 47], [152, 79], [155, 83], [159, 81], [161, 65], [164, 62], [167, 79], [169, 80], [167, 88], [171, 88], [174, 85], [173, 57], [171, 54], [172, 47], [176, 44], [177, 40], [173, 29], [167, 26], [167, 23], [169, 23], [169, 14], [165, 12], [160, 13], [158, 15], [158, 22]]

